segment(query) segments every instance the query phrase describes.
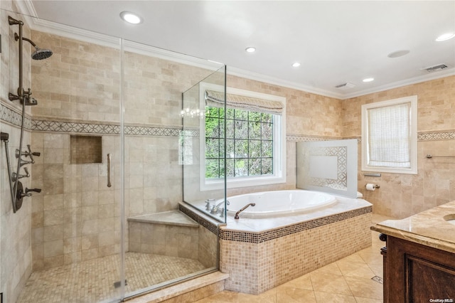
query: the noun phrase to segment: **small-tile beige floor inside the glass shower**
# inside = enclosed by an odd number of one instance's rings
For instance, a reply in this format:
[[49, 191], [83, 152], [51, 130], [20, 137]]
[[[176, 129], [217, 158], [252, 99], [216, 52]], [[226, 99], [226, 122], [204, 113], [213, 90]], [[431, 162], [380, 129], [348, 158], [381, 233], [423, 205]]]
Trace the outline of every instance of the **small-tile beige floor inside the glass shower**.
[[[90, 303], [119, 297], [114, 288], [119, 262], [119, 255], [112, 255], [33, 272], [17, 303]], [[198, 260], [139, 252], [126, 253], [125, 267], [127, 294], [205, 269]]]

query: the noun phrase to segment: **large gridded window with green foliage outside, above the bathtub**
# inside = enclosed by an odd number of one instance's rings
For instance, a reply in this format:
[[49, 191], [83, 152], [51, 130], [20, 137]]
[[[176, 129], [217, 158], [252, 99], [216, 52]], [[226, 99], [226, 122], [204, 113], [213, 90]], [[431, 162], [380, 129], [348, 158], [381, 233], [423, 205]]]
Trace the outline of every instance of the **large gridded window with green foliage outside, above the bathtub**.
[[[276, 184], [285, 179], [285, 99], [203, 83], [201, 190]], [[226, 131], [225, 131], [226, 127]], [[225, 156], [226, 153], [226, 156]]]

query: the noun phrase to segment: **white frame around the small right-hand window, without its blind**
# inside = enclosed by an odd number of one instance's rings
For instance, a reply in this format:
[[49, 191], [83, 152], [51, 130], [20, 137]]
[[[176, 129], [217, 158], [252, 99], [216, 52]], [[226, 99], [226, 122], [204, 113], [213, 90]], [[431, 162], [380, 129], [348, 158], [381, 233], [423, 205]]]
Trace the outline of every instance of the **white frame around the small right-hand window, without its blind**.
[[[410, 168], [368, 165], [368, 110], [410, 103]], [[417, 95], [362, 105], [362, 171], [417, 174]]]

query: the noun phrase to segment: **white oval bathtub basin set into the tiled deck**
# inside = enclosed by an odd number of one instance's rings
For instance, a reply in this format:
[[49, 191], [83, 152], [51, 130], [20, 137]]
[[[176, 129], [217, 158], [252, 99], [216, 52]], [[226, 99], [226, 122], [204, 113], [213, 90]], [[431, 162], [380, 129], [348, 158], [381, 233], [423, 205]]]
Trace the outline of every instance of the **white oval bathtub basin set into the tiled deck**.
[[247, 193], [228, 198], [228, 216], [234, 216], [237, 211], [248, 203], [255, 203], [240, 213], [240, 218], [271, 218], [277, 216], [294, 216], [308, 213], [337, 203], [335, 196], [328, 193], [305, 190], [262, 191]]

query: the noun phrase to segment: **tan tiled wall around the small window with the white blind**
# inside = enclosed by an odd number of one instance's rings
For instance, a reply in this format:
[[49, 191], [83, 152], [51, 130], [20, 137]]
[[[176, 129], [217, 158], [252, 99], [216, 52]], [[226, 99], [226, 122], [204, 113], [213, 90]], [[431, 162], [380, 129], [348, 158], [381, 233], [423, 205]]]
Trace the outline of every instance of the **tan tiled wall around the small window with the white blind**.
[[[343, 137], [360, 137], [363, 104], [417, 95], [418, 174], [363, 176], [358, 146], [358, 188], [373, 211], [405, 218], [455, 200], [455, 76], [407, 85], [370, 95], [343, 100]], [[451, 156], [427, 159], [425, 155]], [[365, 191], [365, 184], [380, 185]]]

